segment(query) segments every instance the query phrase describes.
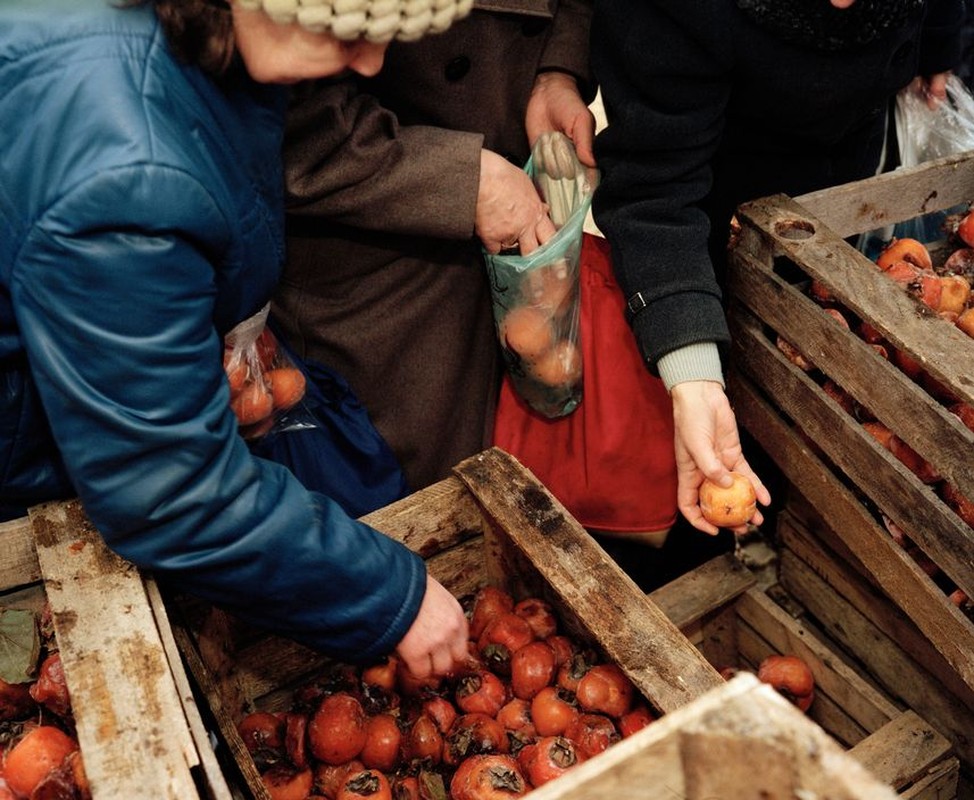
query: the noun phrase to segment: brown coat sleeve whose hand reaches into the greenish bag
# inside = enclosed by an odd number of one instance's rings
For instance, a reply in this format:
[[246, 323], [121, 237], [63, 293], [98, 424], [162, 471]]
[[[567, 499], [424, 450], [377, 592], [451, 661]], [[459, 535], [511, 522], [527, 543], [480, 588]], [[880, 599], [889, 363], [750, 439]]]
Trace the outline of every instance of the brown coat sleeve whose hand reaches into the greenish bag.
[[362, 230], [468, 239], [483, 141], [479, 133], [400, 126], [352, 79], [303, 87], [284, 139], [288, 213]]

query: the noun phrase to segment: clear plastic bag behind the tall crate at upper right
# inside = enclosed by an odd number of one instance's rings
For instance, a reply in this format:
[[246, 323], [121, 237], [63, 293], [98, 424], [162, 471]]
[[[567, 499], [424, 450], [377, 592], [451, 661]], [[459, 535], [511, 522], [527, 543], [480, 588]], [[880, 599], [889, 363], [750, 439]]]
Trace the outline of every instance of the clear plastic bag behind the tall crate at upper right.
[[[947, 78], [947, 99], [930, 108], [915, 84], [896, 96], [894, 121], [899, 166], [915, 167], [935, 158], [974, 150], [974, 95], [956, 75]], [[875, 260], [890, 240], [911, 238], [924, 244], [942, 239], [949, 217], [966, 206], [933, 211], [913, 219], [864, 233], [859, 250]]]

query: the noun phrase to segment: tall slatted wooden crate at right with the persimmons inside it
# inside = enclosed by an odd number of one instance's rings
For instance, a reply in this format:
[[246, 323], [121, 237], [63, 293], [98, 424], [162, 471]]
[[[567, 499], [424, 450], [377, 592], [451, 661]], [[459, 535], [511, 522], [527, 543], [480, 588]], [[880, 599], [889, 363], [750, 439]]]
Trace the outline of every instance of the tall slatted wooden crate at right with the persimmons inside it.
[[[762, 198], [739, 209], [729, 276], [738, 419], [781, 469], [789, 504], [801, 501], [806, 529], [841, 551], [831, 563], [855, 566], [845, 585], [812, 566], [827, 591], [852, 608], [883, 597], [889, 613], [869, 620], [882, 640], [929, 654], [920, 663], [939, 679], [887, 670], [886, 685], [954, 732], [968, 770], [969, 735], [947, 709], [974, 711], [972, 199], [970, 154]], [[891, 239], [873, 258], [850, 243], [957, 208], [929, 241]], [[879, 639], [847, 638], [866, 663], [882, 661]]]

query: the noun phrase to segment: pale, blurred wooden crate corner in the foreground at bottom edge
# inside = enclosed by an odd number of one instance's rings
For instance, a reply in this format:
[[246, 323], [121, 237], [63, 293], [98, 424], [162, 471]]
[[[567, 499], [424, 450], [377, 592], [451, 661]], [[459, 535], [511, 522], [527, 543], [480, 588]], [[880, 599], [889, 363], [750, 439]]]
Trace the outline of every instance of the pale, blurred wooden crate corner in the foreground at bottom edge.
[[818, 725], [742, 673], [678, 708], [532, 800], [897, 797]]

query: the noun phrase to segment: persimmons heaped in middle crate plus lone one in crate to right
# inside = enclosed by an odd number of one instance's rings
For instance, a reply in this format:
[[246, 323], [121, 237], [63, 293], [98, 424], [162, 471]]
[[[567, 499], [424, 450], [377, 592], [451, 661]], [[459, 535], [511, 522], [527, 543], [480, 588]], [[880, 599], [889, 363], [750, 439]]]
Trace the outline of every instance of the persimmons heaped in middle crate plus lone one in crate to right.
[[[295, 692], [290, 710], [240, 720], [273, 800], [520, 797], [656, 718], [622, 669], [560, 630], [545, 601], [485, 586], [465, 606], [470, 657], [455, 675], [417, 680], [395, 657], [336, 664]], [[776, 656], [762, 669], [808, 708], [804, 662]]]

